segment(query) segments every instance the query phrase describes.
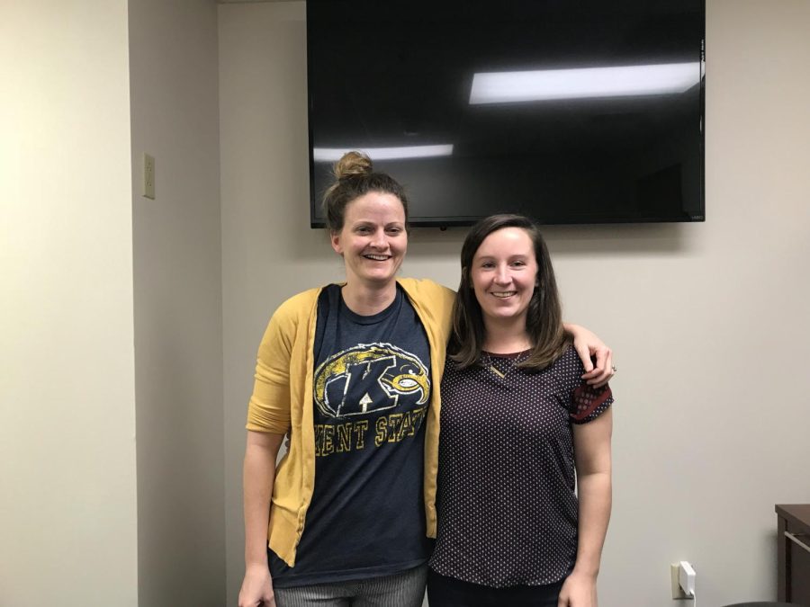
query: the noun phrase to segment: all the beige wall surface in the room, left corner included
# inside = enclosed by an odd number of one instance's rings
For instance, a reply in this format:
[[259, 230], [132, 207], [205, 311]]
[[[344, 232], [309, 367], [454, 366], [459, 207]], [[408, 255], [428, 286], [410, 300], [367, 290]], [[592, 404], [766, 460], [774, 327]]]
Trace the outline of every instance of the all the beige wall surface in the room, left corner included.
[[[258, 339], [342, 275], [307, 227], [303, 4], [219, 9], [221, 289], [211, 7], [129, 8], [131, 44], [124, 2], [0, 4], [0, 604], [183, 604], [189, 576], [220, 603], [223, 440], [235, 604]], [[680, 558], [701, 604], [772, 597], [773, 504], [810, 502], [806, 31], [804, 0], [707, 0], [705, 224], [547, 230], [621, 368], [607, 607], [676, 604]], [[404, 272], [454, 285], [463, 237], [417, 230]]]

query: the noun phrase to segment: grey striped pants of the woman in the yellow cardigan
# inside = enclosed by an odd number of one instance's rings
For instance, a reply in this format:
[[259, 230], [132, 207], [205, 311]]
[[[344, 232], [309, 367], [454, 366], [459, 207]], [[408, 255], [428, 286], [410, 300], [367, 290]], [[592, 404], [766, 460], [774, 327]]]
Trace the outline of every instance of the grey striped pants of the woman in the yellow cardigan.
[[428, 566], [393, 576], [277, 588], [276, 607], [420, 607]]

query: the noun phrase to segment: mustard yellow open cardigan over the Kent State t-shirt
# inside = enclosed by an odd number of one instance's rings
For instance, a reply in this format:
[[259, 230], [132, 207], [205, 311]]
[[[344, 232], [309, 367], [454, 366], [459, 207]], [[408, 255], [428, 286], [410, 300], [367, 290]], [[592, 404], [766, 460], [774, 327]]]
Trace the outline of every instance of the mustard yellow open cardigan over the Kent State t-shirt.
[[[419, 316], [430, 344], [432, 390], [425, 431], [425, 518], [436, 537], [436, 474], [439, 409], [445, 347], [455, 293], [434, 281], [398, 279]], [[306, 290], [287, 299], [270, 318], [259, 345], [256, 382], [247, 406], [247, 429], [287, 434], [287, 452], [275, 471], [269, 546], [290, 567], [304, 529], [315, 486], [315, 427], [312, 417], [312, 352], [318, 296]]]

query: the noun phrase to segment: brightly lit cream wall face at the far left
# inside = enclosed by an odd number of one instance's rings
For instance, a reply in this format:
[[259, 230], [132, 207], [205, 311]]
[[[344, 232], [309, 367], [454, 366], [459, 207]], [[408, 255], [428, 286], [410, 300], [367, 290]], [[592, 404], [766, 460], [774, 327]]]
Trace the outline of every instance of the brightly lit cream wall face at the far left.
[[137, 605], [123, 0], [0, 5], [0, 604]]

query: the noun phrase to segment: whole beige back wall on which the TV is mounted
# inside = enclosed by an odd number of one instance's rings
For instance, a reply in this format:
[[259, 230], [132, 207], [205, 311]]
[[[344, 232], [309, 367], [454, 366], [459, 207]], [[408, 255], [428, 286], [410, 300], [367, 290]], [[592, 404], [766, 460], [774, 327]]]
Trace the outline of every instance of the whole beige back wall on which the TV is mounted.
[[[242, 576], [240, 462], [273, 308], [338, 279], [308, 228], [302, 3], [220, 6], [229, 604]], [[606, 607], [775, 596], [773, 504], [810, 501], [810, 4], [707, 2], [707, 222], [548, 228], [567, 317], [617, 350]], [[404, 272], [457, 283], [464, 230], [421, 228]]]

